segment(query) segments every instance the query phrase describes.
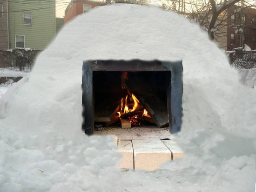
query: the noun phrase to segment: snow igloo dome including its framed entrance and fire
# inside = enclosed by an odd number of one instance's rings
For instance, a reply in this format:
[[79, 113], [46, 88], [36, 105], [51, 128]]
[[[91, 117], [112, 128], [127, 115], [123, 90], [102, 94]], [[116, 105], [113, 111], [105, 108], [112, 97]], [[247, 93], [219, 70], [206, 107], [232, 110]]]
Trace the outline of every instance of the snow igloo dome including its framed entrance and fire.
[[191, 119], [200, 126], [200, 113], [214, 126], [212, 108], [223, 98], [212, 87], [228, 73], [236, 75], [225, 55], [180, 15], [130, 4], [97, 7], [67, 23], [33, 71], [2, 98], [2, 122], [64, 136], [81, 132], [81, 125], [92, 134], [94, 123], [110, 125], [119, 116], [131, 126], [142, 119], [175, 133]]

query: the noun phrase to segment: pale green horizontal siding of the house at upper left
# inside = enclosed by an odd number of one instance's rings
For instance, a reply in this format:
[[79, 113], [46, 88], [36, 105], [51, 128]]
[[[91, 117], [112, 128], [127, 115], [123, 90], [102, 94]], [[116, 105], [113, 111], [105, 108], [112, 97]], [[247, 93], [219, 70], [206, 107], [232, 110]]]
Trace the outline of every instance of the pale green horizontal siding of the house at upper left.
[[[9, 48], [15, 49], [15, 35], [24, 35], [25, 48], [43, 50], [56, 35], [55, 0], [52, 0], [52, 4], [47, 3], [46, 5], [42, 5], [43, 1], [40, 0], [34, 0], [33, 3], [22, 1], [24, 4], [15, 3], [15, 1], [8, 2]], [[25, 12], [32, 13], [32, 25], [23, 24], [21, 10], [28, 10]]]

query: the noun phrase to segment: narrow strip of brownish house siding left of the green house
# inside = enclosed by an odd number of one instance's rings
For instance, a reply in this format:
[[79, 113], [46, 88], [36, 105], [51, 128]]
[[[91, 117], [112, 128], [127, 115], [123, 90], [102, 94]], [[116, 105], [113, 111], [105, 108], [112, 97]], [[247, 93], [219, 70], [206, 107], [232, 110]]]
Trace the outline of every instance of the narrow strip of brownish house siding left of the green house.
[[[7, 12], [7, 1], [0, 0], [0, 5], [3, 6], [3, 12]], [[0, 18], [0, 50], [5, 51], [8, 49], [8, 14], [2, 13]]]

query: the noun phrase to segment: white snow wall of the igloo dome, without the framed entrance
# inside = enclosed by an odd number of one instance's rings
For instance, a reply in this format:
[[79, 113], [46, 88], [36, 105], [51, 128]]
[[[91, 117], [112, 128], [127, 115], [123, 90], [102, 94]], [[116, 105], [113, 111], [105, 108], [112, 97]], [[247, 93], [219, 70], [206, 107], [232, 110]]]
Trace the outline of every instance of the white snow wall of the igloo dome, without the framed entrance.
[[198, 115], [212, 127], [218, 126], [216, 122], [228, 123], [227, 116], [216, 114], [227, 113], [223, 109], [230, 104], [223, 101], [234, 98], [227, 92], [227, 82], [232, 79], [239, 84], [239, 79], [207, 34], [170, 11], [114, 4], [97, 7], [63, 27], [40, 53], [32, 73], [2, 98], [3, 124], [23, 131], [57, 131], [64, 136], [81, 132], [82, 65], [86, 60], [182, 61], [179, 107], [184, 115], [181, 119], [178, 110], [178, 126], [182, 122], [182, 129], [204, 127]]

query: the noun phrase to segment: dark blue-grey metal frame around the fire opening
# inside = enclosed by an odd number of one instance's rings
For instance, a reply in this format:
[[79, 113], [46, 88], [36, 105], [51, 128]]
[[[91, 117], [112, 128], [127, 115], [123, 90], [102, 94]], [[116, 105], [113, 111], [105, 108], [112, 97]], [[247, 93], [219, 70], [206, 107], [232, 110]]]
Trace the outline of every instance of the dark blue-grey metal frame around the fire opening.
[[93, 134], [94, 130], [94, 71], [169, 71], [167, 108], [169, 130], [176, 133], [182, 125], [182, 60], [180, 61], [144, 61], [144, 60], [84, 60], [82, 68], [82, 130]]

